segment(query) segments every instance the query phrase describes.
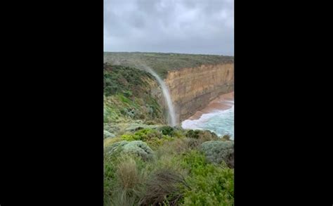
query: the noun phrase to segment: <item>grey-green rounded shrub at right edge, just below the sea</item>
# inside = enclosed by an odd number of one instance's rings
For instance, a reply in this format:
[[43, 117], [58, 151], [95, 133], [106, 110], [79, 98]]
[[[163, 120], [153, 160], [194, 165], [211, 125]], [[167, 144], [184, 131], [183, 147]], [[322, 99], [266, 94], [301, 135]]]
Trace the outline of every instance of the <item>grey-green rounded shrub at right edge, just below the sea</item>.
[[200, 150], [204, 152], [209, 162], [220, 164], [226, 162], [229, 167], [233, 167], [233, 141], [207, 141], [202, 143]]

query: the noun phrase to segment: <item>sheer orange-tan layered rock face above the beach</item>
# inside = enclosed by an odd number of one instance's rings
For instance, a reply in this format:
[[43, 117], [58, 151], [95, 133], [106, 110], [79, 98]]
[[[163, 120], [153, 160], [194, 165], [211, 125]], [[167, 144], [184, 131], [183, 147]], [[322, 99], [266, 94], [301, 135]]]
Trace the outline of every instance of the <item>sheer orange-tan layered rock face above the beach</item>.
[[218, 95], [233, 91], [233, 79], [233, 63], [169, 71], [164, 82], [169, 86], [178, 123], [203, 109]]

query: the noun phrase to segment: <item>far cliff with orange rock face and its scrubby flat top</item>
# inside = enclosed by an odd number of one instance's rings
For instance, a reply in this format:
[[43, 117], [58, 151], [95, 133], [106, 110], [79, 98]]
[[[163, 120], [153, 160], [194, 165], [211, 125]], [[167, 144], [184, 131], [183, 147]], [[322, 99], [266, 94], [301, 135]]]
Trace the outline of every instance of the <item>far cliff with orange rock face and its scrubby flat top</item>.
[[[155, 70], [169, 86], [178, 123], [203, 109], [218, 95], [233, 91], [233, 56], [181, 54], [107, 52], [105, 63], [125, 65], [144, 70], [146, 66]], [[159, 86], [151, 86], [151, 94], [157, 103], [166, 104]]]

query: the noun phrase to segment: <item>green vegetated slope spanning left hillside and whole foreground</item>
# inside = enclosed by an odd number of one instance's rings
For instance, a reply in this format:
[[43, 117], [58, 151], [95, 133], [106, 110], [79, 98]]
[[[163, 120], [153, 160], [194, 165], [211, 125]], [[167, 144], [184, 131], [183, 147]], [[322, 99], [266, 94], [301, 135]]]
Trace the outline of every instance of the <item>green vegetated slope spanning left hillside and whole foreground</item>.
[[[200, 150], [225, 139], [164, 125], [149, 92], [154, 81], [142, 70], [105, 65], [104, 124], [113, 136], [104, 145], [104, 205], [233, 205], [233, 169]], [[141, 128], [126, 130], [133, 125]]]

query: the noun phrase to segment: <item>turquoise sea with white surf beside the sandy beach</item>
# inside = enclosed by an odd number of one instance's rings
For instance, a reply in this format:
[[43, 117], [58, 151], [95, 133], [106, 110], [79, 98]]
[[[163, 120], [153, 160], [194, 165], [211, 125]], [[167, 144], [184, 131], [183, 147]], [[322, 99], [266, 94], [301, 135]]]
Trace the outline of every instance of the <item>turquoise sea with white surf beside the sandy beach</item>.
[[213, 110], [198, 120], [185, 120], [181, 126], [184, 129], [208, 129], [218, 136], [229, 134], [230, 139], [234, 139], [234, 106], [233, 101], [229, 103], [232, 107], [228, 110]]

